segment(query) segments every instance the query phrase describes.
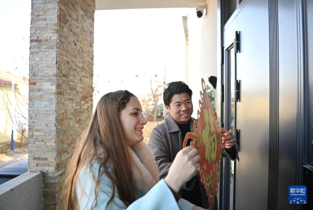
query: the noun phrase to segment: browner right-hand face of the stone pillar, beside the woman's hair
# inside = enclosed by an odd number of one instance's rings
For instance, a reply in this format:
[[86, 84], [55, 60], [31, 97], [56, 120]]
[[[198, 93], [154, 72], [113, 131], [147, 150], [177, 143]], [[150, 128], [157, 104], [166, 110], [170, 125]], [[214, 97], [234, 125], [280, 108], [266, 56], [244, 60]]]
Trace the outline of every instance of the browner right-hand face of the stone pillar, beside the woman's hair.
[[95, 1], [60, 0], [57, 79], [57, 196], [77, 138], [92, 116]]

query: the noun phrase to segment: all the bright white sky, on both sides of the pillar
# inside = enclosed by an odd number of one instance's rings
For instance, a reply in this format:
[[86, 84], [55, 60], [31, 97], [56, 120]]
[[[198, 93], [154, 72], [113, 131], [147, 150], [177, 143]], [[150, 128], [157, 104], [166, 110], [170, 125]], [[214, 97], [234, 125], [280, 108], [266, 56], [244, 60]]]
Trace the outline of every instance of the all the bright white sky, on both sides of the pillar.
[[[0, 68], [28, 75], [30, 0], [0, 2]], [[155, 74], [185, 80], [182, 16], [194, 8], [95, 11], [94, 83], [99, 94], [128, 89], [141, 95]], [[23, 58], [22, 58], [23, 57]], [[138, 75], [138, 76], [136, 76]]]

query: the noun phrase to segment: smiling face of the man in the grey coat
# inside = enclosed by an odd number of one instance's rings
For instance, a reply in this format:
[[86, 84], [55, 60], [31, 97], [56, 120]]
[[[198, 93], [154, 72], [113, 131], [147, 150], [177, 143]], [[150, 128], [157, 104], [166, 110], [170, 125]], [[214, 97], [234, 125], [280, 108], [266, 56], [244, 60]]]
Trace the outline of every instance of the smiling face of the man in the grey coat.
[[175, 94], [170, 106], [165, 105], [165, 108], [171, 117], [181, 124], [186, 124], [193, 112], [192, 101], [188, 93]]

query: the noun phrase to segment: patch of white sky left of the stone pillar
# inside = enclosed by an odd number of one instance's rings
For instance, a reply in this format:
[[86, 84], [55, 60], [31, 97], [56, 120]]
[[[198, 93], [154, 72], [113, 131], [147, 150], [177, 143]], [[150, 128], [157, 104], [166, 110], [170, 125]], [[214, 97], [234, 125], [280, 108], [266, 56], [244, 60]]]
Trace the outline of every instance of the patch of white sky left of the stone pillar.
[[0, 69], [28, 75], [30, 0], [0, 1]]

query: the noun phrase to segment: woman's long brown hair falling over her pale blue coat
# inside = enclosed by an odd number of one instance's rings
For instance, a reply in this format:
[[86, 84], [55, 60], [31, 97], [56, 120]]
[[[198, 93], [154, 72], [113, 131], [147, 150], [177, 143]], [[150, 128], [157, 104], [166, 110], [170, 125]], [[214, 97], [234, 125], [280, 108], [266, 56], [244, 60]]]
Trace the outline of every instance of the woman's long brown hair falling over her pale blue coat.
[[[115, 187], [119, 198], [126, 207], [136, 200], [133, 191], [135, 179], [130, 164], [132, 158], [125, 143], [119, 117], [119, 113], [126, 107], [130, 97], [136, 96], [127, 90], [118, 90], [105, 94], [98, 102], [89, 126], [76, 144], [74, 153], [67, 165], [60, 204], [62, 209], [78, 209], [79, 201], [76, 188], [79, 174], [84, 167], [90, 167], [90, 171], [92, 171], [91, 165], [95, 160], [98, 161], [103, 170], [98, 170], [97, 179], [93, 175], [95, 200], [92, 201], [92, 209], [97, 204], [101, 175], [108, 177], [113, 186], [113, 194], [105, 209], [109, 209], [109, 203], [114, 198]], [[112, 172], [109, 172], [106, 167], [108, 161], [112, 164]]]

